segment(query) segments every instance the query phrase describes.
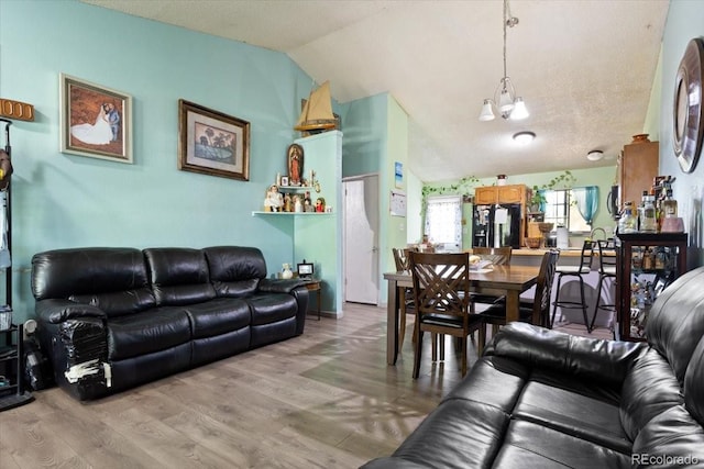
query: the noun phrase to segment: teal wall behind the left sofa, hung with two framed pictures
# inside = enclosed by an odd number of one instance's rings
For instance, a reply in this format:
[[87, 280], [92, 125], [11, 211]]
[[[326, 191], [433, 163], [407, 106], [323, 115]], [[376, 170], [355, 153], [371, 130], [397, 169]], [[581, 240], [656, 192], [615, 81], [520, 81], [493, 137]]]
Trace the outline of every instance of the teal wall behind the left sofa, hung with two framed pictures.
[[[0, 97], [36, 112], [11, 126], [18, 320], [44, 249], [233, 244], [262, 248], [270, 272], [297, 260], [290, 223], [251, 215], [311, 87], [286, 55], [73, 0], [0, 1]], [[133, 165], [59, 153], [59, 72], [133, 97]], [[249, 182], [177, 169], [182, 98], [251, 122]]]

